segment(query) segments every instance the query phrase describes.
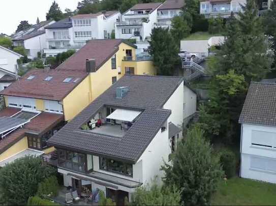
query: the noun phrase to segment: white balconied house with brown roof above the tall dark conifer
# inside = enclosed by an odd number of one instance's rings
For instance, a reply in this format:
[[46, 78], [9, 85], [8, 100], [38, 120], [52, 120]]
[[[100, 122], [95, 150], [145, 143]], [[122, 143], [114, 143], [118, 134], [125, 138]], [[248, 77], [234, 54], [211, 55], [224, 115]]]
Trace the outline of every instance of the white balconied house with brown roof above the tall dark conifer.
[[171, 27], [171, 20], [179, 16], [184, 7], [184, 0], [167, 0], [157, 10], [158, 26]]

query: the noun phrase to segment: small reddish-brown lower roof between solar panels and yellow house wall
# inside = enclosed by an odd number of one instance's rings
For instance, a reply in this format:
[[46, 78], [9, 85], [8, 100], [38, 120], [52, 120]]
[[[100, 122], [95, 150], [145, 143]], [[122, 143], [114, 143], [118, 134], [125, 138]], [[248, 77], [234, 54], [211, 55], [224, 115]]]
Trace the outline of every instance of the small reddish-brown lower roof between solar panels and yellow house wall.
[[24, 128], [27, 130], [32, 130], [36, 132], [44, 132], [53, 128], [57, 123], [64, 120], [64, 115], [54, 114], [48, 112], [42, 112], [30, 122], [28, 122]]

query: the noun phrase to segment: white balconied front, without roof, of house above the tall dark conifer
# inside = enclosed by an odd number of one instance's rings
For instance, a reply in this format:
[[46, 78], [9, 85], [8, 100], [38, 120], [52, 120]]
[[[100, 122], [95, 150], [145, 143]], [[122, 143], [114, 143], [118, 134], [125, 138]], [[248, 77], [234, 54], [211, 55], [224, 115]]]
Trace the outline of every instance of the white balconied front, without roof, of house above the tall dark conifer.
[[182, 12], [181, 9], [166, 9], [166, 10], [158, 10], [157, 12], [157, 19], [158, 19], [158, 26], [167, 28], [171, 27], [171, 20], [175, 16], [179, 16]]

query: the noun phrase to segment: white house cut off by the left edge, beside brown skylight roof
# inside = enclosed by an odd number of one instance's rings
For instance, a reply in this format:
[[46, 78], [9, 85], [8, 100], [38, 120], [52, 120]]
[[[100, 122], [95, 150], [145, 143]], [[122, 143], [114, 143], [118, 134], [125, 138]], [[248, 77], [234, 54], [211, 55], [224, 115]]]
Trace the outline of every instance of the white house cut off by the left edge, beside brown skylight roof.
[[17, 60], [20, 57], [23, 56], [0, 46], [0, 91], [4, 90], [16, 80]]

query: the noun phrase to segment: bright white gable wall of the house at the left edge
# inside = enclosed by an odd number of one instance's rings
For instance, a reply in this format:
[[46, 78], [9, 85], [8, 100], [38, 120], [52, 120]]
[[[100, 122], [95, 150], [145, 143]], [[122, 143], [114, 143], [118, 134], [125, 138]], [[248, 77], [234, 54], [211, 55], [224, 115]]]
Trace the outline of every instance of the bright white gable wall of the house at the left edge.
[[[17, 59], [19, 58], [20, 56], [18, 56], [17, 54], [0, 47], [0, 68], [14, 73], [15, 65], [18, 66]], [[6, 73], [0, 73], [0, 78], [5, 74]]]

